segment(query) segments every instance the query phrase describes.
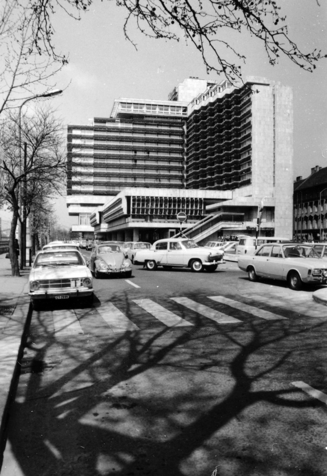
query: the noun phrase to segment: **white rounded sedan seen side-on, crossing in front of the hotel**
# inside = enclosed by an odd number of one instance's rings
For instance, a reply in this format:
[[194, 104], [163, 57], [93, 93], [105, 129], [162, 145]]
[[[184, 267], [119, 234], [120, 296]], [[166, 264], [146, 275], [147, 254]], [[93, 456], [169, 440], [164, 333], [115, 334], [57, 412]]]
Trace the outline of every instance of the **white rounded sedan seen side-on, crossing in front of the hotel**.
[[191, 271], [215, 271], [222, 262], [223, 251], [210, 251], [199, 247], [193, 240], [186, 238], [167, 238], [155, 241], [150, 249], [141, 249], [134, 257], [135, 264], [144, 264], [149, 270], [162, 266], [191, 268]]

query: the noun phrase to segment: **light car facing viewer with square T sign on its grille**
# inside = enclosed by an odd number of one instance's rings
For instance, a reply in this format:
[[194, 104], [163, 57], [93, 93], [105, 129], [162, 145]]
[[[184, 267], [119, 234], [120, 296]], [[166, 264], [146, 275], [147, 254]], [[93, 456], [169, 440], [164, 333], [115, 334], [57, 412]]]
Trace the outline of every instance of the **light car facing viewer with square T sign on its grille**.
[[83, 297], [93, 301], [92, 274], [77, 249], [39, 251], [29, 277], [33, 307], [41, 300]]

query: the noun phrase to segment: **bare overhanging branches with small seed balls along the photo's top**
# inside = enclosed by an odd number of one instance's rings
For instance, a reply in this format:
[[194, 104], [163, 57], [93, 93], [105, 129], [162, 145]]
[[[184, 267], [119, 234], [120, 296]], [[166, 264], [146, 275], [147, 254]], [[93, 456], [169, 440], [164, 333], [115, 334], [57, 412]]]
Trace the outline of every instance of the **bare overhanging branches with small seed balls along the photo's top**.
[[[192, 43], [202, 55], [207, 71], [223, 73], [231, 81], [241, 79], [241, 64], [246, 58], [223, 37], [225, 30], [240, 34], [248, 33], [258, 40], [266, 51], [268, 61], [275, 65], [280, 55], [298, 67], [312, 72], [317, 60], [325, 57], [320, 50], [303, 51], [291, 39], [287, 31], [286, 17], [279, 6], [280, 0], [115, 0], [118, 7], [126, 10], [123, 25], [125, 37], [136, 47], [129, 34], [130, 23], [136, 24], [144, 35], [166, 40], [181, 38]], [[46, 50], [58, 59], [52, 43], [51, 17], [54, 5], [63, 8], [73, 18], [88, 10], [93, 0], [34, 0], [34, 45]], [[312, 0], [309, 8], [320, 6]], [[295, 7], [296, 8], [296, 7]], [[227, 59], [233, 53], [236, 62]], [[210, 60], [213, 53], [214, 60]]]

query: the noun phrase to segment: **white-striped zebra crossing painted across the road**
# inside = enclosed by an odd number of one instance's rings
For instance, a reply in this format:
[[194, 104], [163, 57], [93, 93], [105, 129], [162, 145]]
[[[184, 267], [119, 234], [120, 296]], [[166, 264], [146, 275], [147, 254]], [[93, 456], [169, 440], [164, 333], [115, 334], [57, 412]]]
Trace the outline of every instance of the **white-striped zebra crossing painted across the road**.
[[[203, 317], [219, 325], [239, 325], [242, 322], [246, 323], [249, 315], [254, 318], [269, 321], [287, 320], [285, 316], [225, 296], [207, 296], [206, 298], [209, 302], [212, 301], [213, 306], [215, 306], [216, 303], [222, 307], [224, 312], [215, 307], [210, 307], [209, 305], [190, 299], [189, 297], [170, 297], [166, 300], [167, 307], [149, 298], [131, 299], [130, 303], [137, 306], [139, 310], [141, 321], [138, 321], [137, 312], [135, 312], [135, 316], [133, 315], [133, 309], [130, 305], [129, 309], [132, 310], [124, 313], [112, 302], [102, 302], [99, 306], [85, 310], [83, 319], [80, 318], [81, 311], [75, 311], [74, 309], [54, 309], [52, 311], [46, 311], [42, 317], [47, 319], [49, 330], [57, 337], [84, 334], [83, 327], [85, 327], [85, 324], [83, 323], [86, 322], [85, 315], [87, 316], [88, 312], [92, 313], [93, 318], [100, 319], [102, 325], [108, 328], [113, 334], [141, 330], [142, 326], [140, 322], [144, 322], [144, 316], [148, 316], [148, 318], [154, 319], [154, 322], [158, 324], [161, 323], [166, 327], [203, 327], [206, 325], [206, 322], [203, 323]], [[252, 303], [253, 301], [255, 301], [255, 299], [251, 299]], [[257, 302], [259, 304], [261, 299], [258, 298]], [[171, 308], [174, 305], [176, 305], [176, 310], [174, 309], [174, 312], [172, 312], [168, 307]], [[235, 310], [237, 311], [238, 317], [233, 316]], [[144, 311], [145, 314], [142, 311]], [[194, 317], [194, 313], [197, 316], [196, 318]], [[128, 316], [126, 314], [128, 314]]]

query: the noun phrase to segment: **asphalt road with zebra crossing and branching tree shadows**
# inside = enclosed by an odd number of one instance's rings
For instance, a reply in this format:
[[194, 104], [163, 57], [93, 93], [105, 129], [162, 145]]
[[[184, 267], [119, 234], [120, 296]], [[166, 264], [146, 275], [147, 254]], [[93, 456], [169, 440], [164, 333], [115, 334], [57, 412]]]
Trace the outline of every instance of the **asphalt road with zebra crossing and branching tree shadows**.
[[326, 307], [229, 268], [33, 311], [1, 476], [327, 475]]

